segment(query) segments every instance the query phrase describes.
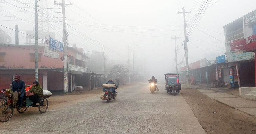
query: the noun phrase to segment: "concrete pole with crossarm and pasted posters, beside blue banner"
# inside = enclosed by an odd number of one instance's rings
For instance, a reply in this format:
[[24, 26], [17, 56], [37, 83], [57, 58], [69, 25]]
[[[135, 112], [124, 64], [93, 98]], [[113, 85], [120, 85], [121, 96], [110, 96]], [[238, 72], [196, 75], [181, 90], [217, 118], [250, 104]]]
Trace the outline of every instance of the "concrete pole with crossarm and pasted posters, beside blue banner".
[[56, 5], [61, 5], [62, 7], [62, 18], [63, 18], [63, 53], [64, 53], [64, 92], [68, 92], [68, 62], [67, 62], [67, 31], [66, 31], [66, 5], [72, 4], [65, 4], [65, 0], [62, 0], [62, 3], [54, 2]]

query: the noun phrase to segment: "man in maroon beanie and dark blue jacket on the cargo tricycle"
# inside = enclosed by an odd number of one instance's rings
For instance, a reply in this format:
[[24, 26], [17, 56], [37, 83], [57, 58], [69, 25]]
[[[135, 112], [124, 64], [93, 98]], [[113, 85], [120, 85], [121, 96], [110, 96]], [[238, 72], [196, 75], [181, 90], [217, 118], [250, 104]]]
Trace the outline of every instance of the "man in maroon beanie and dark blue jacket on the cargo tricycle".
[[21, 109], [23, 97], [25, 95], [25, 82], [20, 79], [19, 75], [14, 76], [14, 81], [12, 82], [12, 90], [13, 92], [17, 91], [19, 95], [19, 106], [18, 109]]

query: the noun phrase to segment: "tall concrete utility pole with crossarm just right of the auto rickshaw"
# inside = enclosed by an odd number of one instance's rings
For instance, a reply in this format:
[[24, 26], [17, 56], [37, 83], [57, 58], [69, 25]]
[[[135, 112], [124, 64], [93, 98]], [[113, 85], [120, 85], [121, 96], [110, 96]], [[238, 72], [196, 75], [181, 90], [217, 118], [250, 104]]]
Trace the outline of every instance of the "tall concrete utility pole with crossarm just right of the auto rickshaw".
[[184, 17], [184, 48], [185, 48], [185, 54], [186, 54], [186, 74], [187, 74], [187, 88], [190, 88], [190, 84], [189, 84], [189, 68], [188, 68], [188, 38], [187, 38], [187, 25], [186, 25], [186, 14], [191, 13], [191, 12], [185, 12], [184, 7], [182, 8], [183, 12], [179, 12], [178, 14], [183, 14]]

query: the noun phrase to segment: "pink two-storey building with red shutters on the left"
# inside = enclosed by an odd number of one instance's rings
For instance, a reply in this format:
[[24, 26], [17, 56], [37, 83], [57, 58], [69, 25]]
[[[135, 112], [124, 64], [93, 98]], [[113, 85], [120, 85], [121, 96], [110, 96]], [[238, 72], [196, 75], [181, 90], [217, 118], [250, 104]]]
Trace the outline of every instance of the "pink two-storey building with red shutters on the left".
[[[78, 78], [86, 73], [85, 59], [88, 57], [82, 48], [74, 47], [67, 48], [67, 55], [68, 89], [72, 91], [75, 85], [86, 83]], [[59, 52], [59, 58], [50, 58], [44, 55], [44, 46], [38, 46], [38, 82], [43, 89], [64, 89], [63, 59], [63, 52]], [[25, 84], [35, 81], [35, 46], [0, 44], [0, 89], [9, 88], [17, 74]]]

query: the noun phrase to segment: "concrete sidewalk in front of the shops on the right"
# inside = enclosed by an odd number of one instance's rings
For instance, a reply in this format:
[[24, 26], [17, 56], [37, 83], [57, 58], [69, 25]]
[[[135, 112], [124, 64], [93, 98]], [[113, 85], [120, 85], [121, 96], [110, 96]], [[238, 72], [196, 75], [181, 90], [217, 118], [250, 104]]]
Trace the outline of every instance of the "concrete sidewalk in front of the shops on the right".
[[239, 96], [229, 95], [227, 93], [215, 92], [211, 90], [206, 85], [191, 85], [193, 89], [197, 89], [203, 94], [213, 98], [221, 103], [227, 104], [235, 109], [246, 112], [247, 114], [253, 115], [256, 117], [256, 101], [241, 98]]

